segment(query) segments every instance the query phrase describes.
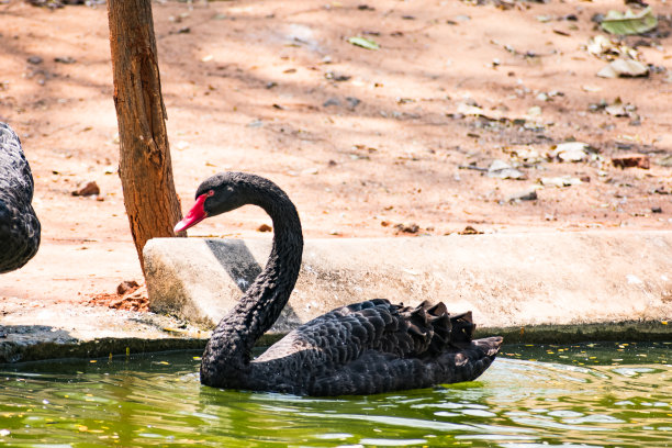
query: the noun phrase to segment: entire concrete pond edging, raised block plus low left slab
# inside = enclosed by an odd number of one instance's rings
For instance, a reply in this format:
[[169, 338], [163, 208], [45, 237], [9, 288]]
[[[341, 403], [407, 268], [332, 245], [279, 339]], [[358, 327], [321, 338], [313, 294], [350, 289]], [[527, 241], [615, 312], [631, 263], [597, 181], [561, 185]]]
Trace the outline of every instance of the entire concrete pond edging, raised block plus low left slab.
[[[209, 332], [186, 321], [219, 321], [269, 250], [262, 239], [149, 242], [147, 283], [161, 314], [3, 299], [0, 363], [202, 349]], [[296, 291], [259, 345], [377, 296], [473, 310], [477, 334], [506, 344], [672, 341], [671, 278], [672, 232], [309, 240]]]

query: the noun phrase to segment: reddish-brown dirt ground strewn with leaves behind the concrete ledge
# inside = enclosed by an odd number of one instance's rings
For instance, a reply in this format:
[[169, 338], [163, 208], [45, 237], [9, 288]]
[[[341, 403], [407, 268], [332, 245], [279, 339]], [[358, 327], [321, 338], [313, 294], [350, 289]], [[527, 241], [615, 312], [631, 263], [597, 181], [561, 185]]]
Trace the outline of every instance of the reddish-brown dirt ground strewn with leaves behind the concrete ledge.
[[[285, 189], [307, 237], [669, 229], [672, 5], [651, 5], [658, 29], [611, 49], [649, 75], [611, 79], [596, 74], [614, 56], [587, 51], [608, 37], [591, 19], [623, 1], [155, 2], [182, 208], [208, 176], [244, 170]], [[0, 121], [22, 138], [43, 226], [0, 298], [85, 301], [142, 279], [107, 21], [104, 4], [0, 3]], [[568, 141], [591, 149], [562, 161]], [[629, 154], [650, 167], [614, 166]], [[489, 176], [494, 160], [519, 179]], [[72, 195], [86, 181], [100, 194]], [[536, 199], [509, 200], [522, 191]], [[247, 208], [190, 235], [268, 237], [262, 224]]]

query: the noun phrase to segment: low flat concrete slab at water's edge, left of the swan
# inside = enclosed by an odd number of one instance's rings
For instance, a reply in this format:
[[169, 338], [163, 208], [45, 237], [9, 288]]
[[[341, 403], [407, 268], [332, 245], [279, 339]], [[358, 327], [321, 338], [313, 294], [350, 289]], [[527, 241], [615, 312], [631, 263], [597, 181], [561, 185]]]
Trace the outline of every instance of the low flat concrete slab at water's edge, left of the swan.
[[0, 303], [0, 363], [202, 348], [209, 332], [173, 317], [68, 302]]

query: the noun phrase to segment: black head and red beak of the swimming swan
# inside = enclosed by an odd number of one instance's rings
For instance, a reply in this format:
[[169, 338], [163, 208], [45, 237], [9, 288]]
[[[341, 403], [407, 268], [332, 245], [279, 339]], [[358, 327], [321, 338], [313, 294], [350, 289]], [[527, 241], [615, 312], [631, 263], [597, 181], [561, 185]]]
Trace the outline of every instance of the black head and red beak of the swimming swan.
[[[251, 175], [221, 172], [205, 179], [195, 193], [195, 204], [175, 226], [175, 232], [192, 227], [208, 216], [231, 212], [246, 203]], [[256, 177], [256, 176], [255, 176]]]

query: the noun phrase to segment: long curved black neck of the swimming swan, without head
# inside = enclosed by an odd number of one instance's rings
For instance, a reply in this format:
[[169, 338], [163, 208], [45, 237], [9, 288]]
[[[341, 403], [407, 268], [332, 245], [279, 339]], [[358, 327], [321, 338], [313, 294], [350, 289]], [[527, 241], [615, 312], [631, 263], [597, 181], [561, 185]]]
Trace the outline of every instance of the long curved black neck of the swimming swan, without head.
[[[272, 186], [275, 187], [275, 186]], [[277, 187], [254, 189], [247, 203], [261, 206], [273, 222], [273, 245], [266, 268], [236, 306], [220, 322], [201, 363], [201, 381], [242, 387], [255, 341], [280, 316], [299, 277], [303, 236], [294, 204]]]

